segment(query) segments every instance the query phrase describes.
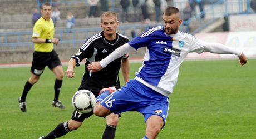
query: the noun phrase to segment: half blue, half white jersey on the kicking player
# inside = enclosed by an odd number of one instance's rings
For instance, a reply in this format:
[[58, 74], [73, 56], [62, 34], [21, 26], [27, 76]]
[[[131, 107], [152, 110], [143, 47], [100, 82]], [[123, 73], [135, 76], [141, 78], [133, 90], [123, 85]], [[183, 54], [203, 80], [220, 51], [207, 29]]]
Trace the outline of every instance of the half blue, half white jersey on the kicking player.
[[[142, 66], [136, 72], [135, 79], [169, 96], [178, 80], [180, 64], [187, 54], [212, 51], [208, 46], [213, 43], [200, 41], [188, 33], [179, 31], [176, 34], [167, 35], [164, 26], [158, 26], [145, 31], [129, 44], [135, 49], [147, 47]], [[220, 51], [220, 53], [239, 53], [237, 50], [232, 50], [228, 49], [227, 52]]]

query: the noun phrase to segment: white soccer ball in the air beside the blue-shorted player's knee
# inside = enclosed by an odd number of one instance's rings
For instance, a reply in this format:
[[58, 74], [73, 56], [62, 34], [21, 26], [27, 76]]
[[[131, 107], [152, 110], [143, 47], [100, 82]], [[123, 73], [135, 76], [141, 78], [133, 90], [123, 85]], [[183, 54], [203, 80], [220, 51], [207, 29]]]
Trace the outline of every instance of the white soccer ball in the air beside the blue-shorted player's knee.
[[79, 90], [72, 97], [73, 107], [81, 113], [88, 113], [93, 110], [96, 98], [91, 91]]

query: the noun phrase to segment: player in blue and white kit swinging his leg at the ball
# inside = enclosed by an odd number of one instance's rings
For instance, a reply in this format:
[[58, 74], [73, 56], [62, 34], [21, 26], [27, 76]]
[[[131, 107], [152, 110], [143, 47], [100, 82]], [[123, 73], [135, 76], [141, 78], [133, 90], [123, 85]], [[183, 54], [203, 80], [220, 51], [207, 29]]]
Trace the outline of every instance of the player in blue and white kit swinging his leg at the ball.
[[[143, 138], [156, 138], [165, 126], [169, 110], [169, 95], [178, 80], [180, 64], [189, 52], [211, 52], [219, 54], [235, 54], [240, 64], [247, 63], [247, 57], [238, 49], [219, 43], [207, 43], [190, 34], [181, 33], [182, 23], [178, 8], [169, 7], [165, 10], [164, 26], [153, 27], [136, 37], [129, 43], [117, 48], [100, 62], [89, 64], [88, 71], [101, 72], [112, 60], [124, 53], [147, 47], [144, 62], [125, 87], [111, 95], [101, 93], [97, 99], [105, 98], [98, 103], [93, 112], [104, 117], [110, 113], [138, 111], [144, 115], [146, 134]], [[136, 99], [134, 99], [136, 98]]]

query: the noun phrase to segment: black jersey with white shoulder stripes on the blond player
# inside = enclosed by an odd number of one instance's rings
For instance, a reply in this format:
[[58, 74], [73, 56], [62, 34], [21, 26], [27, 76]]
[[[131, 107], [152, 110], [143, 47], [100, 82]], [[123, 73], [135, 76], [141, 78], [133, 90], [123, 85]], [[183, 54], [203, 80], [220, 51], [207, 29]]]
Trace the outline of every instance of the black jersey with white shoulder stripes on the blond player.
[[[87, 66], [91, 62], [101, 61], [116, 48], [127, 42], [129, 42], [128, 37], [119, 33], [117, 33], [115, 40], [109, 41], [104, 37], [103, 31], [87, 39], [77, 53], [72, 56], [72, 58], [76, 59], [76, 66], [80, 66], [80, 61], [86, 58], [85, 74], [79, 89], [87, 89], [93, 93], [99, 93], [102, 88], [110, 86], [120, 88], [118, 73], [121, 67], [121, 60], [128, 57], [120, 57], [112, 61], [99, 72], [90, 73]], [[95, 95], [97, 96], [97, 94]]]

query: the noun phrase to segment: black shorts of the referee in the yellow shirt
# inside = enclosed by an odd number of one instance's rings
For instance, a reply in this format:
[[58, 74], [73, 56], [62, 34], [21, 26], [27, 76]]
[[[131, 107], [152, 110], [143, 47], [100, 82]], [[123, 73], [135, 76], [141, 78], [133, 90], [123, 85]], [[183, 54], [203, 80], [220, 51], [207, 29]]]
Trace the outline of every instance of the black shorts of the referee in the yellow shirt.
[[61, 61], [54, 50], [49, 53], [35, 51], [30, 71], [35, 75], [41, 75], [46, 66], [52, 70], [59, 65], [61, 65]]

